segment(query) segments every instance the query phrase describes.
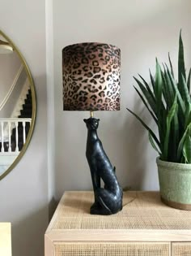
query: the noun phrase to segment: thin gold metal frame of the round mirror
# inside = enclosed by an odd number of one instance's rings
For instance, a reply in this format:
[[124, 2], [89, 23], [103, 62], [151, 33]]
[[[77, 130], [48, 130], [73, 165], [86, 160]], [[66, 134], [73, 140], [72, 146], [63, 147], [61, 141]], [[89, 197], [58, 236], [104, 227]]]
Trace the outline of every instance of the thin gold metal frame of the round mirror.
[[32, 132], [33, 132], [35, 122], [36, 122], [36, 91], [35, 91], [34, 82], [32, 80], [31, 72], [28, 68], [28, 64], [26, 63], [25, 59], [23, 58], [23, 55], [21, 54], [21, 52], [19, 51], [17, 46], [15, 46], [15, 44], [11, 41], [11, 39], [9, 37], [7, 37], [5, 33], [2, 32], [2, 30], [0, 30], [0, 35], [2, 37], [4, 37], [6, 39], [6, 41], [9, 42], [10, 46], [18, 54], [21, 63], [23, 63], [24, 70], [27, 73], [31, 91], [32, 91], [32, 122], [31, 122], [31, 125], [29, 128], [29, 131], [28, 131], [28, 137], [27, 137], [26, 142], [24, 143], [23, 148], [20, 151], [19, 155], [17, 156], [17, 158], [15, 158], [15, 161], [13, 163], [11, 163], [11, 166], [8, 167], [8, 169], [5, 172], [3, 172], [2, 175], [0, 176], [0, 180], [2, 180], [2, 178], [4, 178], [10, 171], [12, 171], [15, 168], [15, 166], [17, 165], [17, 163], [19, 163], [19, 160], [23, 157], [23, 154], [27, 150], [29, 142], [31, 141]]

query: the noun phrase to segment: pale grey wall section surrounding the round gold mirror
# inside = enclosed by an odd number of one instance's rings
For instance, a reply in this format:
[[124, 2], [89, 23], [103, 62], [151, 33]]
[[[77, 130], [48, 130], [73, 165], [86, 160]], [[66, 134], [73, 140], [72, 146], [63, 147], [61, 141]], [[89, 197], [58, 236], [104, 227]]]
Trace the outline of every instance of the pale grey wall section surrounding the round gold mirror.
[[15, 42], [36, 85], [36, 127], [28, 150], [0, 180], [0, 221], [12, 223], [13, 256], [44, 255], [48, 226], [45, 0], [0, 0], [0, 29]]

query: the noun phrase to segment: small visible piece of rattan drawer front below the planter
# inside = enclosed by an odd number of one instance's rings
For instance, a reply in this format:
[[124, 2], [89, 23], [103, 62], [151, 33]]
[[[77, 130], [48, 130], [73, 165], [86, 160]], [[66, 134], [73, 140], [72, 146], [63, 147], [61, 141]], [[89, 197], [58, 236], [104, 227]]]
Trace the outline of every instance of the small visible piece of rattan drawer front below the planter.
[[172, 256], [190, 256], [191, 243], [172, 243]]

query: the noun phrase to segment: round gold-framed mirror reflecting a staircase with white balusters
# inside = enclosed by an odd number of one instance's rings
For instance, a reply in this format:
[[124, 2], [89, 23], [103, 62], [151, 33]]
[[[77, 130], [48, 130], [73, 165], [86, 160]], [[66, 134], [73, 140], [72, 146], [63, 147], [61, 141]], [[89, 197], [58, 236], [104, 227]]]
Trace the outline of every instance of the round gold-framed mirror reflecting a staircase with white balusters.
[[36, 93], [28, 65], [0, 30], [0, 180], [23, 156], [35, 119]]

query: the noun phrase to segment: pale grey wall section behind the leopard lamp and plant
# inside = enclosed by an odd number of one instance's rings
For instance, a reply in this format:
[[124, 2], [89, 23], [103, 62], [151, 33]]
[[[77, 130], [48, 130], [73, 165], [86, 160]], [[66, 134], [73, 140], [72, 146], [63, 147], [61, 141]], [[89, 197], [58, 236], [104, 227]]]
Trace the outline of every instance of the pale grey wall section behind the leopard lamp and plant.
[[140, 73], [148, 79], [149, 67], [155, 69], [155, 56], [160, 62], [167, 61], [168, 51], [177, 67], [180, 28], [186, 64], [191, 66], [190, 7], [190, 0], [184, 4], [180, 0], [53, 1], [56, 198], [64, 190], [92, 188], [83, 123], [89, 113], [62, 111], [62, 48], [83, 41], [108, 42], [121, 48], [121, 111], [96, 113], [100, 139], [123, 187], [159, 189], [156, 154], [147, 132], [125, 107], [155, 127], [135, 93], [133, 76]]

